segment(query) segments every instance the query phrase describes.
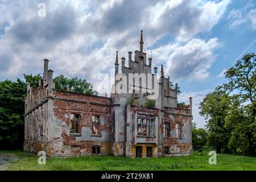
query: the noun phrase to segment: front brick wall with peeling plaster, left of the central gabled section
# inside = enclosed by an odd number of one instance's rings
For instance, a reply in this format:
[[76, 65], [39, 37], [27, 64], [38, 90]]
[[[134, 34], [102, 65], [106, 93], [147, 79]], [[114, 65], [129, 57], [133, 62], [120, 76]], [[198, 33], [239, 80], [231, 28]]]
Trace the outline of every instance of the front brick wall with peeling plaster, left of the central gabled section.
[[[80, 114], [80, 135], [70, 134], [71, 113]], [[110, 98], [88, 96], [71, 92], [55, 92], [53, 104], [52, 155], [92, 155], [92, 146], [100, 146], [100, 154], [111, 154], [112, 121], [110, 118]], [[100, 116], [100, 135], [92, 134], [92, 115]]]

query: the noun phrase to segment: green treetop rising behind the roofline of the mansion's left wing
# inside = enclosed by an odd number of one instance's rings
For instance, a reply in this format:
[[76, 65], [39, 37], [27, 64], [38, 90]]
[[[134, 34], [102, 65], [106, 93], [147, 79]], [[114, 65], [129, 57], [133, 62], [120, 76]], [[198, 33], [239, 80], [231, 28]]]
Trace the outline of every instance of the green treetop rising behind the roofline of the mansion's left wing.
[[59, 90], [70, 90], [72, 92], [85, 93], [90, 95], [97, 95], [98, 93], [93, 90], [92, 84], [85, 79], [73, 77], [67, 78], [64, 75], [59, 75], [54, 78], [55, 88]]

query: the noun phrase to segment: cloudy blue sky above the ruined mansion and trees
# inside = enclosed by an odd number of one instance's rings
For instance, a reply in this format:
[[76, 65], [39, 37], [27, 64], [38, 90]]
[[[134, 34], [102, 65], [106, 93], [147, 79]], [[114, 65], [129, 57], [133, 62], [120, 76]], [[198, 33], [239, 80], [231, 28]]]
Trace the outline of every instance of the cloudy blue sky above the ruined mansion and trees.
[[[40, 3], [46, 5], [42, 16]], [[8, 1], [0, 0], [0, 81], [43, 72], [86, 78], [113, 69], [115, 51], [128, 57], [152, 52], [152, 65], [181, 87], [179, 101], [193, 97], [197, 126], [206, 93], [225, 82], [223, 73], [242, 55], [256, 52], [256, 2], [248, 1]]]

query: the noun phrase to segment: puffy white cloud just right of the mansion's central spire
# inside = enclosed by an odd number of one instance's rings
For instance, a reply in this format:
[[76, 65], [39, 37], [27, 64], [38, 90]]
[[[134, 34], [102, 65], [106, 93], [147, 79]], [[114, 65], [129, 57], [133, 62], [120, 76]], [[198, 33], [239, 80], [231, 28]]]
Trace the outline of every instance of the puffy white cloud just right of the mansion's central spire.
[[188, 80], [205, 80], [209, 76], [208, 69], [216, 60], [213, 51], [220, 47], [218, 39], [208, 42], [202, 39], [191, 39], [186, 44], [168, 44], [154, 51], [154, 57], [159, 62], [166, 61], [166, 73], [175, 80], [188, 78]]

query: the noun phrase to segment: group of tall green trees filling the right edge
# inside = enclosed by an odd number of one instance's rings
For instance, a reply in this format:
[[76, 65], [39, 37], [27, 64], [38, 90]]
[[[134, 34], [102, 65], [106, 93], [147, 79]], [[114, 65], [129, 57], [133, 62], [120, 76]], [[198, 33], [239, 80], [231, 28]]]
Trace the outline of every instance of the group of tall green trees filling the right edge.
[[208, 144], [217, 152], [255, 155], [256, 55], [243, 56], [225, 72], [225, 77], [228, 82], [200, 103], [200, 114], [208, 119]]

